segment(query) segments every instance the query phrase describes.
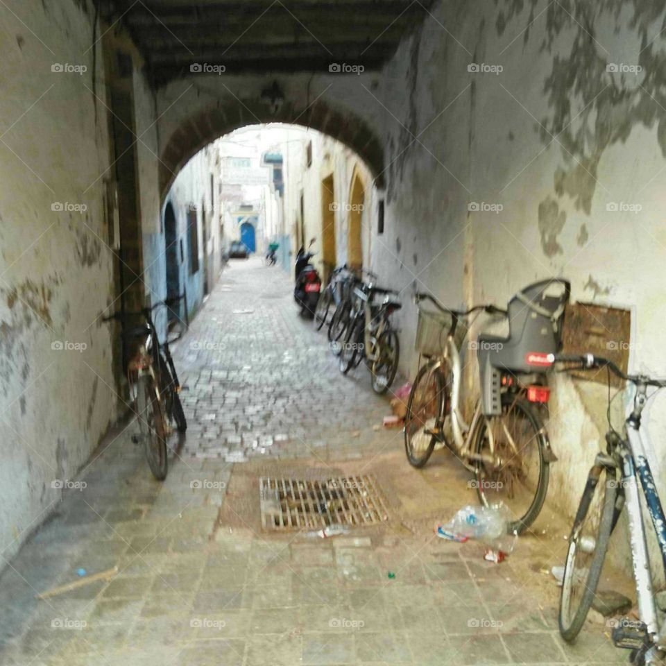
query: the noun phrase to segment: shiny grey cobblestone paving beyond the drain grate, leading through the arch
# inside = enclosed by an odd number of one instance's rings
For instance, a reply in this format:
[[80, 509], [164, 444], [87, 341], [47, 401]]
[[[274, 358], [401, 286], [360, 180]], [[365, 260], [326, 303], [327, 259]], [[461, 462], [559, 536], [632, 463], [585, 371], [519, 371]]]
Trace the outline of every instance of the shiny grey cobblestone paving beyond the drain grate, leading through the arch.
[[298, 316], [289, 279], [258, 259], [232, 262], [180, 343], [192, 425], [185, 456], [359, 456], [381, 445], [388, 413], [365, 368], [341, 377], [325, 330]]

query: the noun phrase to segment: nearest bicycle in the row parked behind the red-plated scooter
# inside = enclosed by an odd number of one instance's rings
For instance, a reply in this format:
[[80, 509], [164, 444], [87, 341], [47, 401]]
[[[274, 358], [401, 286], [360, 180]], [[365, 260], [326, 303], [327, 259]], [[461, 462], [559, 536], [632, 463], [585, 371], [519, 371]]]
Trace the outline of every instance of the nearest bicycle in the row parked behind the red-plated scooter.
[[[351, 368], [357, 367], [362, 360], [370, 369], [373, 391], [386, 393], [400, 360], [400, 341], [391, 325], [389, 317], [402, 305], [389, 296], [398, 296], [398, 291], [383, 289], [374, 284], [363, 284], [354, 290], [357, 305], [352, 310], [342, 345], [339, 367], [346, 375]], [[376, 304], [375, 296], [385, 296], [381, 304]]]

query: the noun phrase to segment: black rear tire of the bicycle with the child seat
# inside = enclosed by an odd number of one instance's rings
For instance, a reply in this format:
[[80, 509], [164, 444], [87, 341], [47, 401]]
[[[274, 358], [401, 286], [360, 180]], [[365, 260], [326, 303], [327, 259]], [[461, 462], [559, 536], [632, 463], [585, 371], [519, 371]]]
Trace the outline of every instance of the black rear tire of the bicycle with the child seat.
[[[524, 532], [530, 525], [536, 520], [541, 509], [543, 508], [543, 503], [545, 502], [546, 495], [548, 492], [548, 483], [550, 478], [550, 464], [547, 462], [545, 450], [548, 445], [547, 436], [545, 434], [545, 425], [541, 417], [531, 408], [531, 405], [524, 398], [516, 398], [515, 395], [511, 393], [506, 393], [502, 397], [502, 416], [495, 417], [495, 420], [506, 418], [507, 414], [505, 411], [507, 409], [515, 409], [518, 412], [522, 413], [522, 416], [525, 417], [527, 423], [529, 423], [531, 429], [531, 436], [529, 436], [527, 444], [535, 443], [537, 447], [538, 454], [538, 481], [536, 484], [536, 490], [533, 492], [533, 497], [529, 504], [527, 511], [525, 511], [520, 518], [515, 518], [509, 522], [508, 529], [509, 533], [514, 531], [518, 534]], [[491, 420], [492, 421], [492, 420]], [[495, 421], [497, 422], [497, 421]], [[506, 423], [503, 424], [506, 427]], [[484, 446], [484, 433], [488, 427], [488, 420], [482, 419], [479, 422], [479, 427], [475, 434], [474, 445], [472, 446], [472, 451], [481, 454]], [[497, 444], [497, 443], [496, 443]], [[524, 447], [522, 447], [524, 448]], [[522, 454], [522, 450], [520, 451]], [[510, 468], [511, 462], [515, 460], [515, 455], [509, 451], [509, 454], [506, 456], [506, 461], [502, 465], [502, 468], [499, 470], [499, 475], [506, 474], [505, 470]], [[521, 456], [524, 458], [524, 456]], [[484, 463], [482, 461], [475, 462], [476, 468], [476, 481], [477, 481], [477, 495], [479, 495], [479, 500], [485, 506], [494, 504], [498, 499], [501, 499], [506, 506], [508, 506], [511, 511], [511, 503], [506, 499], [506, 495], [498, 497], [497, 499], [490, 499], [488, 497], [488, 490], [492, 489], [494, 485], [498, 484], [499, 481], [488, 481], [484, 475]], [[521, 470], [522, 471], [522, 465]], [[495, 471], [495, 473], [497, 473]], [[510, 472], [511, 473], [511, 472]], [[502, 477], [504, 478], [504, 477]], [[508, 488], [508, 492], [513, 492], [513, 477], [510, 479], [509, 483], [504, 481], [501, 482], [502, 485], [498, 486], [499, 490], [504, 490]], [[524, 486], [526, 487], [526, 486]], [[524, 493], [523, 493], [524, 494]], [[513, 512], [512, 512], [513, 513]], [[515, 515], [515, 513], [514, 513]]]

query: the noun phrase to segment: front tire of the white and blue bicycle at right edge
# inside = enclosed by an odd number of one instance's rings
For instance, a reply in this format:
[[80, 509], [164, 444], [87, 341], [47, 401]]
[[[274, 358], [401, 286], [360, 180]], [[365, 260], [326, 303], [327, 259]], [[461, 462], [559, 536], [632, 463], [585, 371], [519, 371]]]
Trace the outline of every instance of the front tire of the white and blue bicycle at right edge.
[[[567, 558], [564, 565], [564, 576], [562, 580], [562, 592], [560, 595], [560, 607], [558, 610], [557, 621], [560, 635], [568, 643], [572, 643], [576, 640], [585, 623], [586, 617], [588, 616], [592, 601], [595, 599], [597, 585], [599, 584], [599, 578], [601, 577], [601, 570], [604, 567], [606, 550], [608, 549], [608, 540], [610, 538], [610, 533], [613, 531], [615, 520], [617, 520], [617, 515], [615, 513], [615, 502], [617, 499], [617, 470], [615, 470], [615, 468], [601, 468], [601, 471], [599, 472], [600, 478], [597, 479], [597, 482], [594, 485], [592, 485], [594, 472], [595, 468], [592, 468], [588, 475], [585, 490], [583, 490], [581, 503], [576, 512], [574, 526], [572, 527], [571, 535], [569, 537], [569, 547], [567, 549]], [[606, 478], [605, 484], [601, 484], [601, 477]], [[583, 536], [583, 522], [588, 518], [588, 512], [590, 511], [590, 506], [592, 506], [592, 499], [595, 491], [599, 490], [599, 492], [601, 492], [602, 489], [604, 492], [604, 498], [603, 504], [601, 504], [601, 515], [599, 517], [595, 549], [592, 554], [592, 561], [590, 562], [588, 575], [583, 584], [583, 594], [581, 595], [580, 603], [572, 613], [570, 601], [572, 599], [572, 586], [574, 585], [574, 579], [576, 577], [575, 558], [581, 536]]]

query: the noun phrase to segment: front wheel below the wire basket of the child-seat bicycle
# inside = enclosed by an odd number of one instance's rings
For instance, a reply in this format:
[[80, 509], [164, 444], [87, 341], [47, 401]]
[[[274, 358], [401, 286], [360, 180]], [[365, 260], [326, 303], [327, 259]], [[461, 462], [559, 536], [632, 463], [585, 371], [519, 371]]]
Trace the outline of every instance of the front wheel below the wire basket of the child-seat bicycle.
[[422, 468], [432, 454], [436, 437], [425, 431], [434, 428], [443, 400], [445, 379], [440, 366], [423, 366], [411, 386], [404, 416], [404, 451], [412, 467]]

